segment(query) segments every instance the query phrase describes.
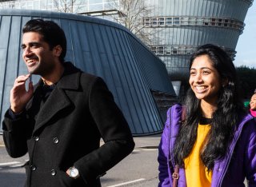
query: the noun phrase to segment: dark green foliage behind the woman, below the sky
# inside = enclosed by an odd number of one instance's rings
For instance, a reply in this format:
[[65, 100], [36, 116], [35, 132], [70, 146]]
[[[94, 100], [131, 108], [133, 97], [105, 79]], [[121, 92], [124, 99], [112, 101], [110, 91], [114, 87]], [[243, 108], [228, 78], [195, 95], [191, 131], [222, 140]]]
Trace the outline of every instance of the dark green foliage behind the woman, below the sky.
[[242, 97], [246, 100], [250, 99], [256, 89], [256, 69], [247, 66], [236, 67], [238, 79], [241, 86]]

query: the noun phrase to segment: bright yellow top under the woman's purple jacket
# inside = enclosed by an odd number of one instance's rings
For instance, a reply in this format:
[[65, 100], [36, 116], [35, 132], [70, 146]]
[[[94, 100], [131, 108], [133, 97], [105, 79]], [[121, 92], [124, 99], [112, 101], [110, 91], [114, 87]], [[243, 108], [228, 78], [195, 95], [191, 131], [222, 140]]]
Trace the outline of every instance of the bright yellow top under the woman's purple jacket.
[[197, 141], [195, 141], [190, 155], [184, 159], [187, 187], [210, 187], [212, 172], [208, 173], [200, 158], [200, 152], [206, 142], [205, 139], [209, 130], [210, 125], [198, 124]]

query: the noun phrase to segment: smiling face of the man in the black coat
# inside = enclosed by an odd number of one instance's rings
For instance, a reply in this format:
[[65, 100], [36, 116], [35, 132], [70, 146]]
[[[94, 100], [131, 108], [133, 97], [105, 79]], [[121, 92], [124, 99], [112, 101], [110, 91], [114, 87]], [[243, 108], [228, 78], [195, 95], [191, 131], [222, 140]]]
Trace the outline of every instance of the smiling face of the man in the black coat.
[[30, 74], [39, 74], [43, 77], [52, 73], [58, 57], [54, 54], [54, 50], [50, 50], [49, 44], [44, 42], [42, 34], [24, 33], [22, 50], [22, 58]]

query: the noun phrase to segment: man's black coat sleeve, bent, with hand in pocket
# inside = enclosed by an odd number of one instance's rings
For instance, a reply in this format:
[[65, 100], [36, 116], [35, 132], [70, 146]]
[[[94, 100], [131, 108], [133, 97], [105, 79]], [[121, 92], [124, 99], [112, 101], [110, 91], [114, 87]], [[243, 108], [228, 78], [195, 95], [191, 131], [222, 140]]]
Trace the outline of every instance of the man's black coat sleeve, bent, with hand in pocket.
[[105, 142], [74, 163], [84, 181], [101, 177], [134, 149], [130, 127], [102, 78], [97, 78], [88, 96], [91, 117]]

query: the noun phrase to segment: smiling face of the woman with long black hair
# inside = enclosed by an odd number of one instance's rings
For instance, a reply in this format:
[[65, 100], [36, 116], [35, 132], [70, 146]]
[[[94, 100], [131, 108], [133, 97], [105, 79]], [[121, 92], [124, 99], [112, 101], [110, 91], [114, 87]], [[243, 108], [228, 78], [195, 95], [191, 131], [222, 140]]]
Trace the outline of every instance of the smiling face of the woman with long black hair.
[[195, 96], [212, 105], [218, 100], [221, 78], [207, 54], [194, 58], [190, 68], [190, 86]]

